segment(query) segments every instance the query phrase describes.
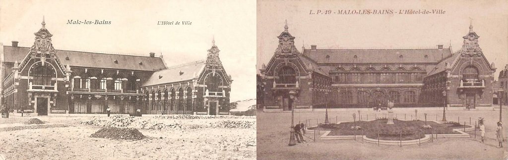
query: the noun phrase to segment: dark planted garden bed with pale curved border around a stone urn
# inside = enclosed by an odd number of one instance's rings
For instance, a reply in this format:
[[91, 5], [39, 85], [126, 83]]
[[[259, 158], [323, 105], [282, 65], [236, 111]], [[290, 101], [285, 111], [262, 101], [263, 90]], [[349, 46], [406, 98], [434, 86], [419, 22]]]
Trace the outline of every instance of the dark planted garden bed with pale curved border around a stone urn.
[[319, 129], [317, 127], [309, 129], [330, 131], [328, 136], [365, 135], [367, 138], [377, 139], [379, 134], [380, 140], [400, 140], [402, 135], [402, 140], [414, 140], [424, 138], [425, 134], [459, 134], [453, 129], [464, 128], [464, 125], [453, 122], [438, 124], [427, 121], [427, 127], [424, 128], [425, 121], [400, 121], [398, 119], [393, 119], [393, 121], [395, 125], [387, 125], [388, 119], [385, 118], [367, 122], [320, 124]]

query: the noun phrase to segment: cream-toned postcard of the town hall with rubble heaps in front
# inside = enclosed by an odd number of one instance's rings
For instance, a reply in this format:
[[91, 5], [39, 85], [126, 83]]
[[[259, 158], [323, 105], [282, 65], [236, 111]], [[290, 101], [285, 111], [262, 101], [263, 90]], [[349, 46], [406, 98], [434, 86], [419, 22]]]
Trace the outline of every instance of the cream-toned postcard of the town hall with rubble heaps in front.
[[0, 1], [0, 63], [0, 159], [256, 159], [256, 1]]

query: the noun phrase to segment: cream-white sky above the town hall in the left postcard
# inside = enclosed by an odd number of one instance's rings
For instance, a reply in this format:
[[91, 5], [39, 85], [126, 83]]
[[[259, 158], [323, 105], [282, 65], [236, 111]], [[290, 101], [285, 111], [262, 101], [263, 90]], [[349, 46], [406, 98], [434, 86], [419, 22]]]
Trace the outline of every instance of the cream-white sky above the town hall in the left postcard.
[[[161, 53], [168, 66], [205, 59], [212, 37], [234, 80], [231, 101], [256, 98], [256, 1], [0, 1], [0, 42], [31, 47], [45, 16], [57, 50]], [[68, 20], [109, 25], [71, 25]], [[192, 25], [156, 25], [192, 21]]]

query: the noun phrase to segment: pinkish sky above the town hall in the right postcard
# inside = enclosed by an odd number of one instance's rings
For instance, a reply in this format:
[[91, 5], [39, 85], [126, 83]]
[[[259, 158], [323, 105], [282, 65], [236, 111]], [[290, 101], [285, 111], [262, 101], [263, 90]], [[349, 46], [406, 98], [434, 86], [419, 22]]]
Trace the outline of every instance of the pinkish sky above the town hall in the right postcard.
[[[508, 62], [508, 1], [259, 1], [258, 68], [267, 64], [277, 48], [278, 36], [288, 20], [295, 45], [309, 49], [445, 48], [455, 52], [469, 31], [490, 63], [499, 70]], [[442, 15], [310, 15], [310, 10], [418, 10], [442, 9]], [[259, 70], [258, 70], [259, 72]]]

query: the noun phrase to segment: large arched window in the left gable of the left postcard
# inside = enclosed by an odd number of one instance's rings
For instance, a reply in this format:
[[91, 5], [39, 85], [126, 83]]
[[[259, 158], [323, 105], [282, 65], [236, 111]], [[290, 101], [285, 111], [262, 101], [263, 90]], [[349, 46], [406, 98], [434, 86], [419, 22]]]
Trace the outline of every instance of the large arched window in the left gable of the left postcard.
[[56, 83], [51, 81], [52, 77], [56, 78], [56, 73], [50, 65], [36, 67], [31, 75], [34, 76], [33, 85], [53, 86]]

